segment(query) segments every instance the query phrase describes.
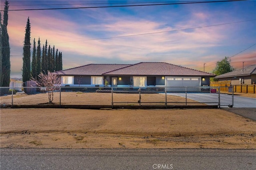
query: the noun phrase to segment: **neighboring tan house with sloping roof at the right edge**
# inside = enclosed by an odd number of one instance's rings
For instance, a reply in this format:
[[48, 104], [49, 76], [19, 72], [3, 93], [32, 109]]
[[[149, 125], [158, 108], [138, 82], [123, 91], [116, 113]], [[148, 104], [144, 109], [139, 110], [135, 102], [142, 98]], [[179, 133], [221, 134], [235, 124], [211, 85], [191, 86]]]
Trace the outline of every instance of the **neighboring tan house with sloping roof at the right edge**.
[[216, 79], [230, 80], [230, 84], [255, 84], [256, 82], [256, 64], [239, 70], [234, 70], [215, 77]]

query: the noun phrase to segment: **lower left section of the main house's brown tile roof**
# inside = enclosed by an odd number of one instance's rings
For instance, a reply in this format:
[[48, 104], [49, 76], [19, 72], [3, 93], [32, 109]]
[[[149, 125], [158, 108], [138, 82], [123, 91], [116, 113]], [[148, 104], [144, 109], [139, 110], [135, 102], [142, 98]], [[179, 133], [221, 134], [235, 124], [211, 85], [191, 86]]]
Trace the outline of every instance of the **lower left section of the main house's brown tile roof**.
[[130, 64], [88, 64], [54, 72], [59, 75], [102, 75], [104, 72], [130, 66]]

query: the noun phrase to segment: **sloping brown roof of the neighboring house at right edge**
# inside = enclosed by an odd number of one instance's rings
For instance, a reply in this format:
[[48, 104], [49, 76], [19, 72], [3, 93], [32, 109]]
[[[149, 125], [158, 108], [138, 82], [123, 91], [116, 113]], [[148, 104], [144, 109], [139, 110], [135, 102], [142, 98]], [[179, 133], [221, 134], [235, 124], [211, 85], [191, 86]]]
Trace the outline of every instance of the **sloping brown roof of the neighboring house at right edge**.
[[215, 78], [226, 78], [226, 77], [234, 77], [234, 76], [247, 76], [250, 74], [256, 74], [256, 64], [252, 66], [245, 67], [244, 69], [234, 70], [232, 72], [227, 72], [225, 74], [221, 74], [216, 76]]

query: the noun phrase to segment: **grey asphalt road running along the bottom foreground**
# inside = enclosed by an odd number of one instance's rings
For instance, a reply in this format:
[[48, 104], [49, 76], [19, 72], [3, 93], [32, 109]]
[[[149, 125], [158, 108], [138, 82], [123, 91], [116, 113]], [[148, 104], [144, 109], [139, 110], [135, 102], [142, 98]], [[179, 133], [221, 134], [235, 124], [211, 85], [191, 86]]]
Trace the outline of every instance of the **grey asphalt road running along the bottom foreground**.
[[1, 149], [1, 170], [256, 169], [256, 150]]

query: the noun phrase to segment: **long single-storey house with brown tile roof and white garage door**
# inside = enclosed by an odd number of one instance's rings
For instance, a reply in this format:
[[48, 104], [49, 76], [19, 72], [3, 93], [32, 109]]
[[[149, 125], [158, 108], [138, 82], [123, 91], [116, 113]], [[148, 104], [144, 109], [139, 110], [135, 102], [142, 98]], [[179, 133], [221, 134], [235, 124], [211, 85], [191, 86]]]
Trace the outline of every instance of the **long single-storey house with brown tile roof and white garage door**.
[[62, 86], [209, 86], [214, 74], [168, 63], [88, 64], [54, 72]]

